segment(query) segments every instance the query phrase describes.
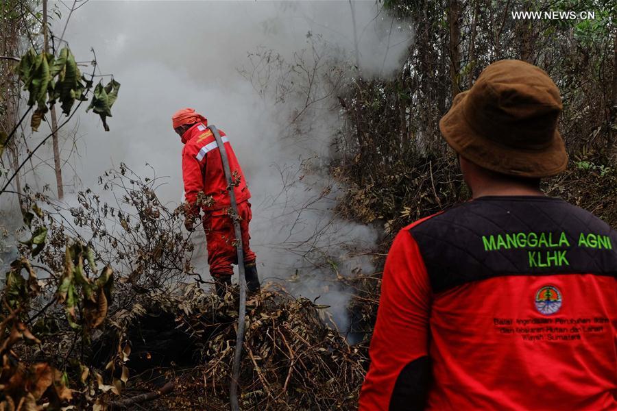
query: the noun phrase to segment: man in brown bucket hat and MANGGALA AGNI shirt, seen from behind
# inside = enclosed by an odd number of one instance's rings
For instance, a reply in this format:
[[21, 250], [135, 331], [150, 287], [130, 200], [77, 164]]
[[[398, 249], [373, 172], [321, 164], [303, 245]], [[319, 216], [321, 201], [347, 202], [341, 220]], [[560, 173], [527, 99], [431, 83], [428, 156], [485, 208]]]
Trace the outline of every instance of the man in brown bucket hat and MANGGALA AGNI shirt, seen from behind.
[[617, 410], [617, 234], [540, 191], [561, 108], [502, 60], [439, 122], [473, 198], [396, 236], [361, 410]]

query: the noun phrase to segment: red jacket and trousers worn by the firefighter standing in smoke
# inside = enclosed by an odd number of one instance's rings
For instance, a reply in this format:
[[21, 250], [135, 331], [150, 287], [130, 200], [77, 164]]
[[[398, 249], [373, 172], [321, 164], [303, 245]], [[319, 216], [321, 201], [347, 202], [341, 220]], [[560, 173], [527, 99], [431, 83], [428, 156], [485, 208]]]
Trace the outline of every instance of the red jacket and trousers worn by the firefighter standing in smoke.
[[[237, 253], [234, 247], [234, 224], [228, 212], [231, 208], [227, 181], [223, 172], [221, 154], [215, 137], [207, 128], [204, 119], [182, 134], [182, 176], [184, 178], [184, 197], [189, 204], [194, 204], [197, 197], [202, 197], [204, 210], [204, 229], [208, 248], [208, 264], [210, 275], [221, 277], [232, 275], [232, 264], [237, 264]], [[219, 130], [229, 158], [238, 213], [241, 218], [242, 245], [244, 261], [254, 262], [255, 253], [249, 247], [249, 223], [252, 218], [251, 205], [247, 201], [251, 194], [246, 186], [246, 180], [232, 149], [228, 137]], [[202, 193], [202, 196], [199, 196]], [[193, 214], [199, 214], [197, 206]]]

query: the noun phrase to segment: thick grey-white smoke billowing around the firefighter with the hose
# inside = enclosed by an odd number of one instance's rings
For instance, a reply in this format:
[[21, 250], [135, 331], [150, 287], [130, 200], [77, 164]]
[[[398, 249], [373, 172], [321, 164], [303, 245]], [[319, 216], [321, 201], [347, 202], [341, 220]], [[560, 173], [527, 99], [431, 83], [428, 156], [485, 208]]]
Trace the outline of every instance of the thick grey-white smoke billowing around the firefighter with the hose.
[[[336, 279], [372, 269], [363, 251], [376, 232], [332, 212], [339, 188], [328, 164], [343, 127], [337, 90], [354, 76], [389, 75], [411, 40], [409, 26], [380, 7], [374, 1], [90, 1], [71, 15], [64, 39], [77, 60], [91, 58], [93, 47], [96, 74], [106, 83], [113, 73], [121, 89], [110, 132], [97, 116], [81, 112], [63, 129], [62, 156], [73, 164], [63, 169], [64, 201], [76, 203], [75, 193], [86, 187], [97, 191], [99, 175], [123, 162], [138, 175], [152, 176], [154, 169], [166, 176], [157, 193], [174, 208], [183, 199], [182, 144], [171, 114], [195, 108], [228, 134], [243, 167], [262, 281], [289, 280], [295, 295], [319, 296], [344, 327], [348, 299]], [[52, 26], [58, 35], [68, 13], [62, 3], [56, 8], [64, 16]], [[26, 179], [35, 188], [53, 187], [53, 170], [39, 168]], [[206, 274], [203, 237], [201, 230], [193, 234], [192, 263]]]

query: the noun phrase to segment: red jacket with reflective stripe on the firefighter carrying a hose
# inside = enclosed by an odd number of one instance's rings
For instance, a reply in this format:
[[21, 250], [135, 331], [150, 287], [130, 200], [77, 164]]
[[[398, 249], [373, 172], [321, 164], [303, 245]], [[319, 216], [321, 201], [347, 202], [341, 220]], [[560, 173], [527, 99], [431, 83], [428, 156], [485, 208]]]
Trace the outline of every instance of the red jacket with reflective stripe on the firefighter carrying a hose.
[[[219, 133], [225, 144], [232, 180], [237, 184], [234, 187], [236, 201], [241, 203], [250, 199], [251, 193], [228, 137], [222, 130], [219, 130]], [[202, 203], [204, 210], [229, 208], [231, 203], [221, 153], [207, 124], [204, 122], [193, 125], [182, 134], [182, 142], [182, 177], [186, 201], [195, 203], [199, 192], [203, 192], [206, 195], [206, 203]]]

